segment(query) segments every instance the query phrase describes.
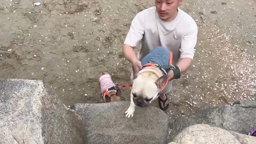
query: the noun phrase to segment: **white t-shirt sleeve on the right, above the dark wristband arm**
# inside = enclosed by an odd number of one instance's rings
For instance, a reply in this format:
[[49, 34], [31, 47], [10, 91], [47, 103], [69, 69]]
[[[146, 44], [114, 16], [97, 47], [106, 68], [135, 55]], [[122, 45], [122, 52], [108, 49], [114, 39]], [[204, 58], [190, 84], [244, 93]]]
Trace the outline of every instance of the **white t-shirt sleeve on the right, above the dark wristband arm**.
[[185, 34], [181, 40], [180, 59], [194, 58], [194, 51], [197, 42], [197, 26], [189, 33]]

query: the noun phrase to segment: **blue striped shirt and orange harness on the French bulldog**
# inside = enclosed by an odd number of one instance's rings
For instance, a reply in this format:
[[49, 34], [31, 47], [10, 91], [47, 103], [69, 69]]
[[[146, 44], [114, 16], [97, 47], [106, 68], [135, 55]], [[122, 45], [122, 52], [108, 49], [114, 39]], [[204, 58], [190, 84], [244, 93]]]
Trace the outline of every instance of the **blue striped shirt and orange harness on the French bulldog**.
[[[173, 78], [178, 79], [180, 78], [180, 69], [177, 66], [172, 65], [172, 52], [165, 49], [162, 46], [155, 47], [152, 51], [150, 51], [142, 60], [141, 60], [142, 68], [145, 67], [157, 67], [159, 68], [163, 75], [167, 75], [170, 70], [173, 70]], [[140, 69], [140, 70], [141, 70]], [[164, 82], [163, 87], [159, 90], [161, 93], [168, 81]]]

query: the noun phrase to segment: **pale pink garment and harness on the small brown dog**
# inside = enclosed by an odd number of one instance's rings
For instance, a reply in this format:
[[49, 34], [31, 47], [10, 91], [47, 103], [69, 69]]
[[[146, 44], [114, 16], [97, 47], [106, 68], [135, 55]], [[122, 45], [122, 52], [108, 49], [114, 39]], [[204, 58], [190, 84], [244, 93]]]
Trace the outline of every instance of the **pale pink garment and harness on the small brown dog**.
[[109, 97], [109, 93], [116, 93], [116, 86], [113, 83], [111, 76], [109, 74], [102, 75], [99, 78], [99, 82], [103, 99], [105, 102], [109, 102], [107, 101], [107, 97]]

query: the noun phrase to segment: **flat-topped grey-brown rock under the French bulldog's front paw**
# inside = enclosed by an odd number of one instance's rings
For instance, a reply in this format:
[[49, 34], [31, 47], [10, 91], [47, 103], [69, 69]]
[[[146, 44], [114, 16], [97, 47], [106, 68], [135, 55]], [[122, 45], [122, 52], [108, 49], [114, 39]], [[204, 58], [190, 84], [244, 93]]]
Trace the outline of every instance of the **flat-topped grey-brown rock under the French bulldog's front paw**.
[[129, 101], [110, 103], [77, 103], [74, 106], [86, 127], [86, 143], [166, 143], [168, 122], [156, 107], [135, 108], [134, 116], [124, 112]]

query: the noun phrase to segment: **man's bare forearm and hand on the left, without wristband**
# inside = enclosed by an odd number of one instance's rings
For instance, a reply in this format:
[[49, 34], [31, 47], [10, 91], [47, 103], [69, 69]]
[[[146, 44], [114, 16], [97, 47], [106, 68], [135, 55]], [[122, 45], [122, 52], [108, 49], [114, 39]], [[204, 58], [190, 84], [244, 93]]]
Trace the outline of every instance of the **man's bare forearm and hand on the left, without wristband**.
[[123, 47], [123, 54], [124, 57], [132, 63], [132, 66], [135, 68], [135, 70], [139, 71], [139, 69], [142, 67], [140, 60], [137, 58], [137, 55], [130, 45], [124, 44]]

